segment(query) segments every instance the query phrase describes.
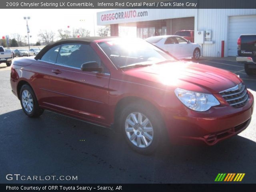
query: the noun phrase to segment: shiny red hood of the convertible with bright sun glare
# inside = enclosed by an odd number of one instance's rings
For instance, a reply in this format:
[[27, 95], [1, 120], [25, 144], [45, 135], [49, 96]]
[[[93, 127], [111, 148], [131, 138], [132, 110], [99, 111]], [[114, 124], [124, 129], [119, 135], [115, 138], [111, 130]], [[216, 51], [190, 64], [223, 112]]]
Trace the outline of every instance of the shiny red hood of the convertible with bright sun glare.
[[176, 87], [197, 92], [217, 94], [240, 84], [234, 73], [193, 62], [166, 62], [152, 66], [123, 70], [128, 81], [165, 90]]

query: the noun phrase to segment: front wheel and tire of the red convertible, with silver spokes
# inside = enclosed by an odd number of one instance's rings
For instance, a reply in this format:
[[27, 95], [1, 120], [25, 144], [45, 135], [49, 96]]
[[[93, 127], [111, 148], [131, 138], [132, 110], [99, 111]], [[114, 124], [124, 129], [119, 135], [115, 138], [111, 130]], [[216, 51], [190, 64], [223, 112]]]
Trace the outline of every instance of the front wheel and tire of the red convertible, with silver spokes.
[[[138, 124], [134, 123], [136, 122], [134, 118], [138, 120]], [[145, 122], [146, 118], [147, 122]], [[120, 115], [119, 127], [122, 135], [128, 145], [141, 154], [152, 154], [160, 146], [163, 125], [158, 113], [148, 104], [131, 103]]]

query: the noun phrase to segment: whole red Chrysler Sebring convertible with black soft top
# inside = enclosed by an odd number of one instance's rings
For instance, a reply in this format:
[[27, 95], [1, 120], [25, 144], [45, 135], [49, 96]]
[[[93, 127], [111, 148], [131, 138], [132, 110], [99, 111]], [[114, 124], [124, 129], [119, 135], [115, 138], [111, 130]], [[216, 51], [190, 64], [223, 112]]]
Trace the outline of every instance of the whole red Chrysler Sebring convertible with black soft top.
[[254, 103], [235, 74], [178, 61], [140, 39], [60, 40], [14, 61], [10, 81], [27, 116], [47, 109], [113, 127], [144, 154], [165, 135], [208, 145], [234, 136]]

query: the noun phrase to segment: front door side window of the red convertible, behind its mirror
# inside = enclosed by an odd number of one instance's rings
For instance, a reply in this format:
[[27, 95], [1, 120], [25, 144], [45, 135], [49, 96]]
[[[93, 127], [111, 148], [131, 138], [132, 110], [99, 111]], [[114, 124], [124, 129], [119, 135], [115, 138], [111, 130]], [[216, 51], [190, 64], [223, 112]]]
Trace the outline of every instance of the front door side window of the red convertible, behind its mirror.
[[62, 44], [57, 58], [57, 64], [81, 68], [81, 65], [96, 61], [102, 65], [96, 52], [88, 44]]

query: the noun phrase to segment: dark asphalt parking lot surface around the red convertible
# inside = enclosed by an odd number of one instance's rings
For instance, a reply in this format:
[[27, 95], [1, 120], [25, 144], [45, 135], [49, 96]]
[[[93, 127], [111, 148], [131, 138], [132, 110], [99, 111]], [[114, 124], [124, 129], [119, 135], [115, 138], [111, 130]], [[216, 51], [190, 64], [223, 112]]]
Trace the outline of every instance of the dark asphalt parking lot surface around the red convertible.
[[[235, 58], [199, 62], [239, 75], [256, 98], [256, 76], [247, 76]], [[245, 173], [243, 183], [256, 183], [256, 112], [244, 132], [215, 146], [166, 146], [143, 156], [108, 129], [49, 111], [28, 118], [9, 78], [10, 67], [0, 64], [0, 183], [214, 183], [218, 173]], [[16, 181], [6, 174], [78, 180]]]

